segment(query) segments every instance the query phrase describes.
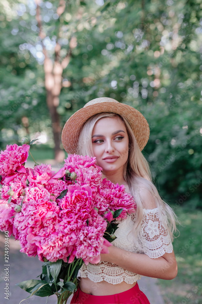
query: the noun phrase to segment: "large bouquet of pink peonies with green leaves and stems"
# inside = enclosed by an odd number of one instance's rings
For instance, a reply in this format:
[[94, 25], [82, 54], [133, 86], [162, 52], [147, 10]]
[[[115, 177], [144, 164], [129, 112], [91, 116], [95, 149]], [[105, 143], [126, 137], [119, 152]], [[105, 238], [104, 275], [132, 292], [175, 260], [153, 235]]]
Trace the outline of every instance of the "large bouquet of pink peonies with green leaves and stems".
[[136, 205], [123, 185], [102, 179], [95, 157], [69, 155], [57, 173], [47, 164], [25, 168], [33, 142], [0, 153], [0, 230], [20, 241], [21, 252], [44, 262], [41, 280], [17, 285], [30, 296], [56, 294], [61, 304], [74, 292], [81, 264], [98, 263], [108, 253], [118, 228], [112, 221]]

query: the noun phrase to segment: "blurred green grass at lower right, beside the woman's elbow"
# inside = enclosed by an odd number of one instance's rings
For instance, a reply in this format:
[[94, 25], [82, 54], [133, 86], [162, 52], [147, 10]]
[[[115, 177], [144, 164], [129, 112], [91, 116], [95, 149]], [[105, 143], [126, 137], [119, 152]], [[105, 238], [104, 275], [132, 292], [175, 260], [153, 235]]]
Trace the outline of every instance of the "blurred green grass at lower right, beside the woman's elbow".
[[[183, 226], [178, 226], [180, 236], [174, 240], [173, 247], [178, 265], [177, 277], [173, 280], [160, 280], [158, 284], [168, 303], [201, 303], [201, 231], [200, 210], [176, 210]], [[183, 292], [182, 292], [183, 291]]]

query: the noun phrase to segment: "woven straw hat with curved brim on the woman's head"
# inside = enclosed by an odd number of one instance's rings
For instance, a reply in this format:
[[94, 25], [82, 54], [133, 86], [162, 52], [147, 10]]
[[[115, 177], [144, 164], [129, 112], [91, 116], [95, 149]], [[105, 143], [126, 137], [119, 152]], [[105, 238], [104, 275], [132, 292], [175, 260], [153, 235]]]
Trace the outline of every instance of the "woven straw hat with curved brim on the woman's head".
[[62, 144], [70, 154], [76, 153], [79, 135], [83, 124], [93, 115], [102, 112], [112, 112], [127, 119], [134, 132], [140, 150], [144, 148], [149, 138], [149, 125], [144, 116], [130, 105], [120, 103], [113, 98], [95, 98], [77, 112], [65, 123], [62, 130]]

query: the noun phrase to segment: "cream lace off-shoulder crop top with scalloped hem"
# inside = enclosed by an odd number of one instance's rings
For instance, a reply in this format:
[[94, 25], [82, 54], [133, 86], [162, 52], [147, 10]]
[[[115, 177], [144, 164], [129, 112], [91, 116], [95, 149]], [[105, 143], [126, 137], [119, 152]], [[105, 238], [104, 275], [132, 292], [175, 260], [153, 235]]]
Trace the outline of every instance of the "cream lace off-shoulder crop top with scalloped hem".
[[[162, 210], [162, 209], [161, 209]], [[164, 219], [166, 217], [162, 211]], [[163, 254], [171, 253], [173, 246], [168, 231], [164, 228], [159, 219], [158, 209], [143, 209], [143, 220], [141, 230], [141, 244], [143, 251], [139, 251], [134, 244], [132, 228], [135, 221], [135, 215], [128, 215], [126, 219], [119, 221], [119, 228], [115, 231], [117, 239], [112, 244], [121, 249], [147, 254], [151, 258], [161, 257]], [[88, 277], [93, 282], [106, 281], [111, 284], [118, 284], [125, 281], [133, 284], [143, 275], [138, 275], [131, 271], [125, 270], [116, 264], [110, 262], [100, 262], [98, 264], [89, 263], [87, 266], [82, 264], [78, 271], [77, 277]]]

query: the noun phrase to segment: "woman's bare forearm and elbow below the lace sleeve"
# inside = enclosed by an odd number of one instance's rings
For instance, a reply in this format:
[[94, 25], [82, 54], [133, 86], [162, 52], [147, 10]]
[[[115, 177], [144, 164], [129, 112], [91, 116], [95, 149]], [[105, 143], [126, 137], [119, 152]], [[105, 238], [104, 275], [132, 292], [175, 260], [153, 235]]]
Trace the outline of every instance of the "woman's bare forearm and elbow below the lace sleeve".
[[109, 254], [101, 254], [101, 261], [114, 263], [128, 271], [147, 277], [172, 280], [177, 275], [174, 251], [152, 259], [146, 254], [133, 253], [115, 246], [108, 248]]

